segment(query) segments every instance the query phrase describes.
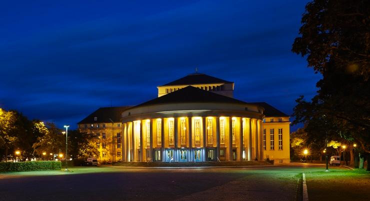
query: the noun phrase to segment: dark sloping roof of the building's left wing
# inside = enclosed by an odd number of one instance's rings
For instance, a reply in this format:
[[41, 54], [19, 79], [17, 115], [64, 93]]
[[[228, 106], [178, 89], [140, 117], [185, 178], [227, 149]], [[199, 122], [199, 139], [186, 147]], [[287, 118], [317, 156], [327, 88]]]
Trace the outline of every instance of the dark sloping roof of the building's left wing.
[[[119, 106], [119, 107], [100, 107], [96, 111], [89, 114], [87, 117], [79, 121], [80, 123], [102, 123], [102, 122], [119, 122], [121, 119], [121, 114], [124, 110], [130, 108], [131, 106]], [[94, 120], [97, 117], [97, 120]]]

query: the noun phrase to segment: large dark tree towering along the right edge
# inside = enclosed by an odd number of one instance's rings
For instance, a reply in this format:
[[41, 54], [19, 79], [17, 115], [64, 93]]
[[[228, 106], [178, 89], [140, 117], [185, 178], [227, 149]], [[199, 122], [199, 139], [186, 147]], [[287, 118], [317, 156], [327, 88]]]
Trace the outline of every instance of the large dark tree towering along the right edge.
[[336, 129], [334, 135], [358, 142], [366, 153], [370, 153], [369, 6], [370, 0], [308, 2], [300, 36], [292, 46], [293, 52], [306, 56], [315, 73], [322, 74], [311, 101], [297, 99], [295, 122], [325, 116]]

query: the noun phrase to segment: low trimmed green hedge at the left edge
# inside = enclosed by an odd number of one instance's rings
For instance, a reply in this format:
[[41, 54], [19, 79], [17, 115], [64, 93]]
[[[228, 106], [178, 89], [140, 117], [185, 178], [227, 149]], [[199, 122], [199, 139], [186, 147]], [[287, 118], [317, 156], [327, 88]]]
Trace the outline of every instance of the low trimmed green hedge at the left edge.
[[60, 169], [60, 161], [0, 162], [0, 172]]

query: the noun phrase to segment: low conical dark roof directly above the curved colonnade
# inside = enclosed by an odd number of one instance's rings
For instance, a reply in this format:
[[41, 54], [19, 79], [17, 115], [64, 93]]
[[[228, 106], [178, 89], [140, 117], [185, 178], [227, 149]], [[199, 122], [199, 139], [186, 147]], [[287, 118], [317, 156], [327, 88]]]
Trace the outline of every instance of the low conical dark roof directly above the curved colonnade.
[[165, 104], [179, 102], [226, 102], [226, 103], [243, 103], [246, 102], [234, 99], [232, 97], [220, 95], [214, 92], [196, 88], [194, 86], [186, 86], [179, 90], [167, 93], [160, 97], [141, 103], [137, 106], [150, 104]]

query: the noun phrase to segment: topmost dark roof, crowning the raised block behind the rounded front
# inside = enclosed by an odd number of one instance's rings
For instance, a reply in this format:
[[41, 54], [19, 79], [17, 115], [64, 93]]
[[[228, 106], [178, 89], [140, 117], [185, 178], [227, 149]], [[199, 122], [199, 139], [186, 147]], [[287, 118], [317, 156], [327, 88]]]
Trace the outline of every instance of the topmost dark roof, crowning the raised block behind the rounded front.
[[202, 73], [193, 73], [188, 74], [182, 78], [176, 79], [169, 83], [163, 84], [162, 86], [167, 85], [186, 85], [186, 84], [202, 84], [202, 83], [232, 83], [231, 81], [226, 81], [219, 79], [217, 77], [209, 76]]

